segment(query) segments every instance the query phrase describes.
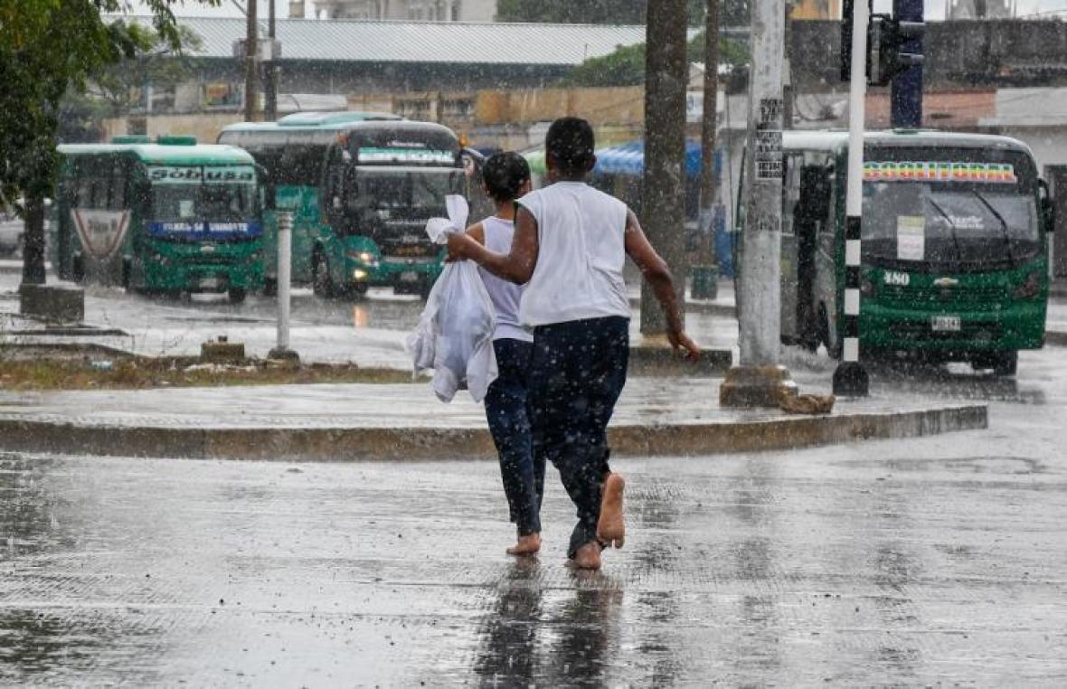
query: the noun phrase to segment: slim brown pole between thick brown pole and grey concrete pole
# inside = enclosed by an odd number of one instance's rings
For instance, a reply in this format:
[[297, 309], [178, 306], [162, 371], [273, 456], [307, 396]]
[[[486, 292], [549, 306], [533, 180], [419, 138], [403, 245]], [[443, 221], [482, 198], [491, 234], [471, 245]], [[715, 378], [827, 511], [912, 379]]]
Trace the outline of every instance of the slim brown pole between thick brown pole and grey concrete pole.
[[692, 295], [718, 295], [715, 260], [715, 132], [718, 127], [719, 94], [719, 0], [707, 0], [704, 14], [704, 115], [700, 123], [700, 258], [707, 266], [692, 267]]

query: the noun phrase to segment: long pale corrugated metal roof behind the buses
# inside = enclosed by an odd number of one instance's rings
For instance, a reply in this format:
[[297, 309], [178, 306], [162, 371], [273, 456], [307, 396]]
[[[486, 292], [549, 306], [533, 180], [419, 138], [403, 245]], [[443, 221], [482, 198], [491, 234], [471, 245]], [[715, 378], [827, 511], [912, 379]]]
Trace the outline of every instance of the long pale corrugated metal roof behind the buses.
[[[207, 58], [233, 59], [245, 34], [240, 18], [178, 21], [203, 38]], [[280, 19], [277, 38], [283, 60], [570, 66], [643, 43], [644, 27]]]

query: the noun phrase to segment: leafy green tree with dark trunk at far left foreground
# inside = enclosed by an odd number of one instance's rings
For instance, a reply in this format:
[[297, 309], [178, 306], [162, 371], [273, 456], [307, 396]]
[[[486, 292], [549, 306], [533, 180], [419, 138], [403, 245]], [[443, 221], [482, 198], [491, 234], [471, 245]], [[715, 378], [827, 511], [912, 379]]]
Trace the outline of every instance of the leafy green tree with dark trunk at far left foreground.
[[[175, 1], [146, 4], [156, 33], [178, 49]], [[26, 220], [23, 283], [45, 282], [44, 199], [59, 166], [61, 102], [107, 66], [137, 54], [143, 30], [108, 16], [126, 9], [125, 0], [0, 0], [0, 203]]]

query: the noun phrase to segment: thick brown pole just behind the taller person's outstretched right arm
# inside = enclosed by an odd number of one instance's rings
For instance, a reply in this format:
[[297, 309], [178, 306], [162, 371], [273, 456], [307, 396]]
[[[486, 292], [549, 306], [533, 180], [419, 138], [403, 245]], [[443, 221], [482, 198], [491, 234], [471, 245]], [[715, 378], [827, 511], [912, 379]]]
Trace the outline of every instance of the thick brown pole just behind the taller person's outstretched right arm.
[[[649, 241], [676, 276], [685, 318], [686, 0], [650, 2], [646, 25], [644, 177], [641, 222]], [[663, 335], [667, 322], [655, 294], [641, 285], [641, 334]]]

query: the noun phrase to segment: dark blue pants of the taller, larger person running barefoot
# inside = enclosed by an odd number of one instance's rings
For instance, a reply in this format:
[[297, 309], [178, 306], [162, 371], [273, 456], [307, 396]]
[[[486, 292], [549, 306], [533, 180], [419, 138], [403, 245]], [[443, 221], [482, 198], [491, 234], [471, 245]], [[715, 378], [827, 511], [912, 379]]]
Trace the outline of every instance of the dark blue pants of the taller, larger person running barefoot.
[[577, 508], [568, 556], [596, 539], [608, 468], [607, 422], [626, 384], [630, 320], [594, 318], [534, 330], [534, 455], [559, 469]]

